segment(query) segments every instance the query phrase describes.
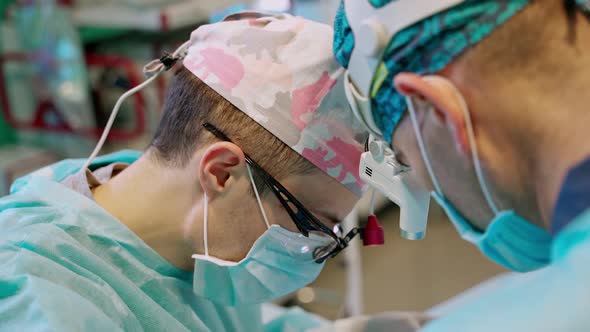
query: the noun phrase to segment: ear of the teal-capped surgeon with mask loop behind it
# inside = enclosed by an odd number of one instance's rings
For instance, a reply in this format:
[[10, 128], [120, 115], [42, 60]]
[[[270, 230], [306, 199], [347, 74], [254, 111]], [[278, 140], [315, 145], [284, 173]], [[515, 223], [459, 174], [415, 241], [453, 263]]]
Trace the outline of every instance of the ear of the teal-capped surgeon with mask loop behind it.
[[470, 153], [471, 145], [465, 125], [467, 106], [450, 81], [440, 76], [422, 77], [401, 73], [394, 78], [394, 83], [403, 95], [419, 98], [430, 104], [435, 118], [449, 129], [457, 149], [464, 154]]

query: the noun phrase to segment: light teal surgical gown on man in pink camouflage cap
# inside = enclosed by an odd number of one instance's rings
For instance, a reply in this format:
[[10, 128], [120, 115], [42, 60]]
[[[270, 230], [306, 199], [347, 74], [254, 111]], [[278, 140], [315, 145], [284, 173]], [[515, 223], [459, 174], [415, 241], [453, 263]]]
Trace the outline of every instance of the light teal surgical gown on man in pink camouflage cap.
[[[91, 169], [131, 163], [98, 158]], [[287, 312], [263, 325], [258, 305], [224, 307], [194, 295], [191, 272], [148, 247], [91, 199], [62, 185], [83, 160], [17, 180], [0, 198], [0, 331], [293, 331], [314, 318]]]

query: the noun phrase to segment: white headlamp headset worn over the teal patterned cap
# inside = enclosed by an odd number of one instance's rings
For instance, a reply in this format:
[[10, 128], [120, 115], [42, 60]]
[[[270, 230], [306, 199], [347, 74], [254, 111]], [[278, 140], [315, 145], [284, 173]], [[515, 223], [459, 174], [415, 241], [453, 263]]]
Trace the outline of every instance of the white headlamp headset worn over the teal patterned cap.
[[[433, 13], [462, 2], [461, 0], [425, 1], [408, 7], [408, 1], [390, 4], [387, 9], [376, 8], [369, 1], [345, 1], [347, 22], [356, 36], [346, 73], [346, 97], [357, 118], [373, 135], [368, 152], [361, 159], [360, 174], [364, 181], [400, 206], [401, 236], [419, 240], [426, 235], [430, 193], [405, 172], [409, 168], [400, 163], [379, 129], [372, 114], [371, 85], [373, 74], [381, 61], [388, 41], [403, 28]], [[410, 15], [395, 15], [413, 9]], [[392, 19], [395, 17], [396, 19]]]

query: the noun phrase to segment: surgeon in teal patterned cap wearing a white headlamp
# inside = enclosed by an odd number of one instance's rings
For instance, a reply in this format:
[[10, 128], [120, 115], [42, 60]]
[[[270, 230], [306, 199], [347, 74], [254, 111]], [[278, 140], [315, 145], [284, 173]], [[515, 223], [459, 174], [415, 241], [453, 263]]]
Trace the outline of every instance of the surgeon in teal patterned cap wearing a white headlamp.
[[421, 331], [590, 331], [589, 10], [342, 1], [349, 100], [406, 166], [396, 176], [431, 190], [489, 259], [536, 271]]

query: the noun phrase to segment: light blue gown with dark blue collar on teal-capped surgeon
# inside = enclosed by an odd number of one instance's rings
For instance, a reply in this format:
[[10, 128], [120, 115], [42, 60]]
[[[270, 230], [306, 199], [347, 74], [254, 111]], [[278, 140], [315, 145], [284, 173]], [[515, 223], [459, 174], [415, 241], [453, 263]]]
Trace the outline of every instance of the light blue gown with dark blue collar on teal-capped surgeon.
[[566, 177], [552, 225], [549, 266], [513, 278], [421, 331], [590, 331], [590, 159]]

